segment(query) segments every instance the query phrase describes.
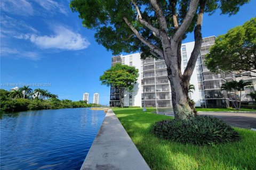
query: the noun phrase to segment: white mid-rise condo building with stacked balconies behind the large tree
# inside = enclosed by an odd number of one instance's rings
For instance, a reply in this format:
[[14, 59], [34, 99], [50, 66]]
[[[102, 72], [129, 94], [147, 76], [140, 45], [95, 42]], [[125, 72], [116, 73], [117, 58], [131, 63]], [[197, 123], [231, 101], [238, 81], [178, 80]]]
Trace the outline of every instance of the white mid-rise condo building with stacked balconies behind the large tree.
[[[229, 107], [229, 99], [235, 92], [227, 94], [227, 91], [221, 90], [223, 83], [227, 81], [243, 79], [252, 81], [254, 87], [246, 88], [243, 91], [242, 100], [251, 101], [249, 97], [251, 91], [256, 89], [256, 78], [239, 77], [232, 73], [220, 71], [218, 74], [210, 72], [204, 64], [205, 54], [209, 53], [210, 47], [214, 44], [215, 36], [203, 38], [201, 54], [199, 54], [190, 84], [194, 84], [195, 91], [188, 95], [195, 101], [195, 106], [201, 107]], [[181, 71], [184, 72], [190, 54], [193, 51], [195, 42], [181, 45]], [[166, 64], [164, 60], [155, 58], [146, 58], [140, 60], [140, 53], [130, 55], [119, 55], [112, 57], [112, 66], [116, 63], [134, 66], [139, 69], [139, 78], [132, 92], [122, 89], [122, 99], [124, 106], [146, 106], [171, 108], [171, 87], [167, 78]], [[253, 74], [250, 72], [249, 74]], [[120, 106], [119, 91], [114, 87], [110, 88], [110, 106]]]

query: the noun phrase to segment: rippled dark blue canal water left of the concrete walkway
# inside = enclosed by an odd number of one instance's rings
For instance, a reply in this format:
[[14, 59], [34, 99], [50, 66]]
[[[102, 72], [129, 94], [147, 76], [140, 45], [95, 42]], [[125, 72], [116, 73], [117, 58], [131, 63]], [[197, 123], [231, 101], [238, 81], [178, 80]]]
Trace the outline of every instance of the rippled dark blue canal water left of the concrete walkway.
[[2, 114], [0, 169], [79, 169], [104, 117], [89, 108]]

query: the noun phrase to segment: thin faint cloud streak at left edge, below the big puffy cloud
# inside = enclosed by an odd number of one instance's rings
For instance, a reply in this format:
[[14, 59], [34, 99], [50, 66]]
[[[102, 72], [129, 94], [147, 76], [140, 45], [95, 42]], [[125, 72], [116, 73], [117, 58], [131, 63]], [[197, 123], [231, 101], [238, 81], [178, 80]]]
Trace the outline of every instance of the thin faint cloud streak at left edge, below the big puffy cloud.
[[28, 58], [30, 60], [39, 60], [38, 53], [28, 52], [24, 50], [18, 50], [16, 48], [1, 47], [0, 49], [1, 56], [12, 56], [14, 58]]

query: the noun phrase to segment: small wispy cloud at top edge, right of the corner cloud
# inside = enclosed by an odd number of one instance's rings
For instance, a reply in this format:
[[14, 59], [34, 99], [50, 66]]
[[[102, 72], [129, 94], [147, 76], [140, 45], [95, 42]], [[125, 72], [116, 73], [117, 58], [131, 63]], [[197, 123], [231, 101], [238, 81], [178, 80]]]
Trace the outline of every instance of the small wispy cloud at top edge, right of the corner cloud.
[[57, 3], [55, 1], [52, 0], [35, 0], [41, 7], [43, 7], [45, 10], [51, 12], [51, 13], [55, 13], [57, 10], [60, 13], [63, 13], [65, 15], [68, 15], [68, 11], [66, 10], [66, 7], [63, 6], [60, 3]]

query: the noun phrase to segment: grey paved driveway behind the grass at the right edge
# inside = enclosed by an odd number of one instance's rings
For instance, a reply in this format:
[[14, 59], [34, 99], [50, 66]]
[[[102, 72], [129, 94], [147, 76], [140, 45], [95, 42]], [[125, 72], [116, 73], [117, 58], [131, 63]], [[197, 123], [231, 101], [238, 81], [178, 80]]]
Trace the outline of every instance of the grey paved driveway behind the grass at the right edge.
[[256, 129], [256, 113], [198, 112], [198, 114], [220, 118], [231, 126]]

